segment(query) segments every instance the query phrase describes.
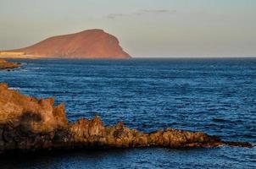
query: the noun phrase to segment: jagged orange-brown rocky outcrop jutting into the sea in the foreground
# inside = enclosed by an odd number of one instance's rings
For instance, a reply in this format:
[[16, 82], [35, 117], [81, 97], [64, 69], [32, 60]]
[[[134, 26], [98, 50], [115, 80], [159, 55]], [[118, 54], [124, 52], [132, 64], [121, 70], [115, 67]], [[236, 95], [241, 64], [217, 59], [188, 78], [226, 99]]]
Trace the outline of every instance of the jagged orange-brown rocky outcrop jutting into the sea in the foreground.
[[8, 90], [0, 84], [0, 152], [63, 148], [131, 147], [216, 147], [223, 144], [250, 147], [251, 144], [224, 142], [201, 132], [173, 128], [142, 133], [123, 123], [104, 126], [99, 117], [81, 118], [68, 123], [64, 105], [54, 106], [54, 99], [34, 97]]

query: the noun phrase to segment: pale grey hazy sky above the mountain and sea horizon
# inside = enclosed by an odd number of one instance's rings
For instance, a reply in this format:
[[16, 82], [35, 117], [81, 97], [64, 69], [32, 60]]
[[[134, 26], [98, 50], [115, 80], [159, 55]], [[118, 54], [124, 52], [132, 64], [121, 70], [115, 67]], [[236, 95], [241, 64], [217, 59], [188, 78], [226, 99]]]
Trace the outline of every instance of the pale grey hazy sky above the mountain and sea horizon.
[[0, 50], [96, 28], [132, 57], [256, 56], [256, 0], [0, 0]]

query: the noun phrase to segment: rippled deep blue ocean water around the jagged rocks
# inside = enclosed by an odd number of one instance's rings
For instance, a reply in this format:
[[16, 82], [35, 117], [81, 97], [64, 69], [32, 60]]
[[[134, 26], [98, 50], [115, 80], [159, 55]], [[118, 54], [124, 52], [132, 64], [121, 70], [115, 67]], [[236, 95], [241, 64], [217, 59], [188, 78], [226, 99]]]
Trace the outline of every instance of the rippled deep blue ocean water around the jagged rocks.
[[[14, 60], [15, 61], [15, 60]], [[99, 115], [150, 132], [180, 128], [256, 144], [256, 58], [17, 60], [0, 82], [64, 102], [70, 122]], [[256, 148], [65, 152], [0, 160], [4, 168], [256, 168]]]

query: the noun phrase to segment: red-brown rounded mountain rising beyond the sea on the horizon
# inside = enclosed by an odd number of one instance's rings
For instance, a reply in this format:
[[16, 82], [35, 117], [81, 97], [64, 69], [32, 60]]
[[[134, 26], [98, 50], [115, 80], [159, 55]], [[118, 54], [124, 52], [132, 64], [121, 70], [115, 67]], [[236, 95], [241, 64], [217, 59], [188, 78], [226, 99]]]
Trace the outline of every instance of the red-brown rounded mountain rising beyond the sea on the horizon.
[[84, 30], [70, 35], [58, 35], [33, 46], [16, 49], [36, 57], [65, 58], [130, 58], [114, 35], [103, 30]]

